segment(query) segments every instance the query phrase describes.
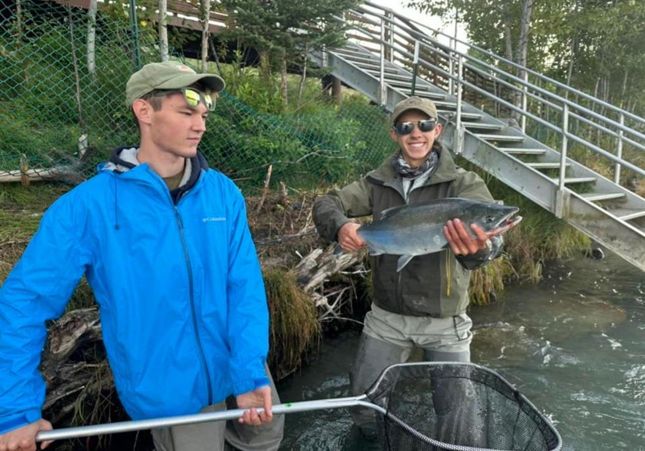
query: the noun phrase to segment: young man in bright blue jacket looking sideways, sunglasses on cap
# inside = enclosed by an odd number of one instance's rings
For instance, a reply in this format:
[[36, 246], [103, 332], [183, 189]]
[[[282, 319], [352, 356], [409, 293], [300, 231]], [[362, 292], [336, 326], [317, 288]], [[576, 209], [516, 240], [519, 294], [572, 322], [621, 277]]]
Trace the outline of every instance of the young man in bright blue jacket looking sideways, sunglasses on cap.
[[[114, 381], [133, 419], [248, 408], [226, 428], [153, 430], [158, 451], [277, 450], [283, 418], [266, 369], [268, 309], [244, 198], [197, 151], [224, 81], [175, 61], [134, 73], [139, 146], [59, 198], [0, 287], [0, 451], [34, 450], [45, 321], [83, 276]], [[264, 407], [258, 414], [255, 407]], [[273, 421], [272, 421], [273, 420]], [[230, 449], [230, 448], [227, 448]]]

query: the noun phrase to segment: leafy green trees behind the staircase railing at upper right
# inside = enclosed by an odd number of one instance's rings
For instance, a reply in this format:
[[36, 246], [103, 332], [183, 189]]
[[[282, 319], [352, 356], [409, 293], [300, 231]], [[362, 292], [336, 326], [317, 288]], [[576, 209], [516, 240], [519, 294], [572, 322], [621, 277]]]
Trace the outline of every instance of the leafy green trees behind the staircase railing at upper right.
[[[454, 19], [456, 11], [459, 22], [467, 25], [471, 43], [505, 57], [508, 24], [517, 61], [515, 43], [524, 1], [410, 0], [408, 4], [444, 21]], [[643, 111], [645, 80], [639, 74], [645, 64], [645, 2], [536, 1], [529, 39], [531, 69], [557, 81], [570, 79], [575, 88], [630, 111]]]

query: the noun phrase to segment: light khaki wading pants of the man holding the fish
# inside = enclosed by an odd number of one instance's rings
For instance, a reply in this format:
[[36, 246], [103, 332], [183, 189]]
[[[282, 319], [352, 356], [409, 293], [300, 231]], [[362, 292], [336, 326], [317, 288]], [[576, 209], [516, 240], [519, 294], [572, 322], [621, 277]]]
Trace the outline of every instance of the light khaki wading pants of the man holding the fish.
[[[473, 321], [465, 313], [449, 318], [407, 316], [388, 312], [372, 304], [372, 311], [365, 316], [361, 341], [350, 373], [352, 394], [364, 394], [382, 370], [407, 361], [415, 347], [423, 350], [424, 361], [470, 361], [472, 324]], [[370, 430], [375, 427], [374, 411], [354, 407], [350, 412], [354, 423], [366, 434], [371, 434]]]

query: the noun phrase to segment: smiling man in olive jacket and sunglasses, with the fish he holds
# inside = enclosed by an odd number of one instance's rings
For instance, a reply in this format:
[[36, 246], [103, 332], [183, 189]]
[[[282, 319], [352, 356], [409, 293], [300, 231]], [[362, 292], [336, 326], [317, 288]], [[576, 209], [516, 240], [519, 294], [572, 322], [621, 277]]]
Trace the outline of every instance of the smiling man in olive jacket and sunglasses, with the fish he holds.
[[[350, 374], [353, 394], [414, 347], [424, 360], [470, 361], [470, 270], [499, 256], [501, 233], [519, 222], [511, 219], [517, 208], [493, 204], [483, 180], [455, 166], [437, 141], [438, 119], [427, 99], [399, 102], [390, 130], [399, 151], [314, 206], [324, 238], [350, 252], [368, 245], [372, 254], [374, 300]], [[368, 215], [370, 225], [352, 220]], [[353, 416], [370, 434], [371, 412]]]

